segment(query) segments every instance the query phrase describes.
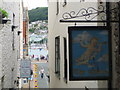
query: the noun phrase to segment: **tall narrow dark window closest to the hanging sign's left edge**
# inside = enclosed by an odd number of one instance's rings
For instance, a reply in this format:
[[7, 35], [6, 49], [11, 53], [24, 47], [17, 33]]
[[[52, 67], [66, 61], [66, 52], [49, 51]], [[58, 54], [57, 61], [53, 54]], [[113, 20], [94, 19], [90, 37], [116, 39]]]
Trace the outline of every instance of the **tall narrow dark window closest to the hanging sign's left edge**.
[[64, 40], [64, 79], [67, 83], [67, 41], [66, 38]]

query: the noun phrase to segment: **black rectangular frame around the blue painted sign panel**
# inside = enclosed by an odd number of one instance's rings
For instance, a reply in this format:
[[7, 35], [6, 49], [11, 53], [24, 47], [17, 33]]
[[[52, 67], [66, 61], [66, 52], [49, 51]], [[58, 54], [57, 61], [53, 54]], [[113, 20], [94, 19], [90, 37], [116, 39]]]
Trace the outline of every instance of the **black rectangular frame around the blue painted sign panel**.
[[[73, 76], [73, 63], [72, 63], [72, 32], [74, 31], [90, 31], [90, 30], [106, 30], [108, 32], [108, 76], [86, 76], [86, 77], [74, 77]], [[106, 26], [69, 26], [68, 27], [68, 39], [69, 39], [69, 80], [70, 81], [80, 81], [80, 80], [110, 80], [112, 77], [112, 55], [111, 55], [111, 31]]]

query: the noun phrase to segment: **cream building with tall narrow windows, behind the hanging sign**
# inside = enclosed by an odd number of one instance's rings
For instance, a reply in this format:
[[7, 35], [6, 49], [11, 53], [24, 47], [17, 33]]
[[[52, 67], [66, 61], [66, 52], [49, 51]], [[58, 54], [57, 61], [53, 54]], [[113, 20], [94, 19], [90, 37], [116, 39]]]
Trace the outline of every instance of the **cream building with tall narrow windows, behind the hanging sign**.
[[[70, 18], [71, 20], [84, 20], [84, 21], [86, 19], [89, 20], [91, 18], [89, 14], [94, 13], [94, 11], [96, 12], [98, 9], [100, 9], [99, 5], [105, 6], [105, 3], [99, 2], [103, 0], [94, 0], [94, 2], [92, 1], [93, 0], [49, 0], [48, 46], [49, 46], [50, 88], [86, 88], [86, 87], [87, 88], [107, 88], [108, 87], [107, 80], [80, 80], [80, 79], [70, 80], [71, 75], [69, 72], [71, 72], [71, 69], [70, 69], [71, 58], [69, 56], [70, 40], [69, 40], [68, 27], [70, 26], [84, 26], [84, 27], [104, 26], [104, 24], [101, 24], [101, 23], [98, 24], [97, 22], [71, 23], [71, 22], [60, 22], [60, 20], [62, 19], [65, 20], [65, 18]], [[89, 11], [89, 9], [93, 9], [93, 10]], [[106, 9], [106, 7], [101, 9]], [[79, 14], [84, 16], [76, 17], [76, 15], [79, 16]], [[93, 15], [96, 15], [96, 14], [93, 14]], [[99, 17], [97, 17], [96, 15], [96, 16], [93, 16], [92, 19], [98, 20]], [[69, 19], [66, 19], [66, 20], [69, 21]], [[114, 50], [114, 47], [113, 47], [113, 50]], [[115, 58], [114, 54], [113, 54], [113, 58]], [[115, 59], [113, 61], [115, 61]], [[113, 64], [113, 71], [114, 71], [114, 64]]]

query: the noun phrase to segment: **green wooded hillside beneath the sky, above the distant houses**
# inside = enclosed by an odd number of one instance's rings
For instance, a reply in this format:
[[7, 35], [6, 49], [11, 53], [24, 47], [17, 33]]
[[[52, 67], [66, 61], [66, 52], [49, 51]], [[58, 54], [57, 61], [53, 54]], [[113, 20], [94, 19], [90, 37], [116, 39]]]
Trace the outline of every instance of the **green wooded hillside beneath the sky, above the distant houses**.
[[38, 7], [28, 11], [30, 22], [48, 20], [48, 7]]

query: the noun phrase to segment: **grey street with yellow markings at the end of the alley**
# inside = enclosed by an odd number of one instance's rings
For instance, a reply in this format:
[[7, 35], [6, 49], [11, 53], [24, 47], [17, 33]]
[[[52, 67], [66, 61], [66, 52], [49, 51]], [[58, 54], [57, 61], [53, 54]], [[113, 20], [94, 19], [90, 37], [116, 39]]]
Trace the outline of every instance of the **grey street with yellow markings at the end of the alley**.
[[[33, 66], [33, 86], [34, 88], [48, 88], [49, 84], [48, 84], [48, 63], [46, 61], [34, 61], [32, 62], [32, 66]], [[41, 68], [44, 68], [44, 76], [43, 78], [41, 78], [40, 75], [40, 70]]]

